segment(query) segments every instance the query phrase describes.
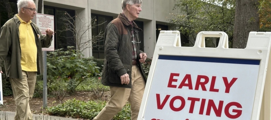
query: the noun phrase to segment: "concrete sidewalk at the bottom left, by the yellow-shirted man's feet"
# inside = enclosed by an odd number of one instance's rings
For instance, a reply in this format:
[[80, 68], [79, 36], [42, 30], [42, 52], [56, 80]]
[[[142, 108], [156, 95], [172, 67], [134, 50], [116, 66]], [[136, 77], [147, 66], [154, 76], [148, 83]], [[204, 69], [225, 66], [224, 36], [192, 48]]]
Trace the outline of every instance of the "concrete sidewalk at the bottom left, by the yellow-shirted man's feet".
[[[6, 118], [5, 120], [14, 120], [14, 116], [15, 116], [15, 112], [0, 111], [0, 120], [4, 120], [5, 118]], [[78, 119], [33, 114], [33, 120], [78, 120]]]

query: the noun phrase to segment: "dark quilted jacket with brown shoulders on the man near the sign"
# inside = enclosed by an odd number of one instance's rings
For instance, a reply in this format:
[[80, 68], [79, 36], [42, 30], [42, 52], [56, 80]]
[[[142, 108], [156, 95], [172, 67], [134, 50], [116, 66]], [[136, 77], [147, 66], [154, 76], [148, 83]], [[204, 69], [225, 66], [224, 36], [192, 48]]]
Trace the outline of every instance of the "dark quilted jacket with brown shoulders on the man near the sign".
[[[106, 86], [116, 86], [132, 88], [132, 82], [129, 84], [121, 84], [120, 76], [128, 74], [130, 81], [132, 81], [132, 37], [131, 37], [132, 25], [125, 19], [121, 13], [118, 18], [112, 20], [106, 27], [105, 40], [104, 40], [104, 68], [102, 75], [102, 84]], [[139, 42], [138, 31], [142, 32], [142, 29], [138, 28], [134, 23], [134, 32], [136, 41]], [[146, 82], [146, 77], [142, 69], [142, 65], [139, 62], [139, 54], [143, 51], [139, 51], [139, 44], [137, 43], [136, 51], [138, 55], [137, 63], [141, 74]]]

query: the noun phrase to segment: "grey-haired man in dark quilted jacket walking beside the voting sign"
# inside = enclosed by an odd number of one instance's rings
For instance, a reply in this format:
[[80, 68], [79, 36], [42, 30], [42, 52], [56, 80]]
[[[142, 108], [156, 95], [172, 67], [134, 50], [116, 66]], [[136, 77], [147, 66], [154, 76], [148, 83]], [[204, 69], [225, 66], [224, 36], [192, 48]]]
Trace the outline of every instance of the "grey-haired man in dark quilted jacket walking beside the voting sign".
[[142, 11], [142, 0], [122, 0], [122, 13], [111, 21], [105, 31], [104, 73], [102, 84], [110, 86], [111, 98], [93, 120], [111, 120], [129, 101], [131, 119], [139, 113], [146, 77], [141, 63], [147, 55], [139, 50], [139, 31], [133, 20]]

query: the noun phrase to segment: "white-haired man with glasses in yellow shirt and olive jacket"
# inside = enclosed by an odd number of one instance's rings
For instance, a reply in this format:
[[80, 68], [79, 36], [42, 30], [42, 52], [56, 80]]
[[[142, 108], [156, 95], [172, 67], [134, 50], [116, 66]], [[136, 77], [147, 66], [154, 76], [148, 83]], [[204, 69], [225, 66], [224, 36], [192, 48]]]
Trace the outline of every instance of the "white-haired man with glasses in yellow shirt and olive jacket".
[[[42, 47], [51, 46], [54, 31], [46, 36], [31, 19], [36, 14], [33, 0], [18, 0], [18, 14], [1, 28], [0, 63], [5, 62], [16, 103], [15, 120], [33, 120], [29, 100], [33, 97], [37, 74], [43, 72]], [[2, 67], [0, 66], [0, 72]]]

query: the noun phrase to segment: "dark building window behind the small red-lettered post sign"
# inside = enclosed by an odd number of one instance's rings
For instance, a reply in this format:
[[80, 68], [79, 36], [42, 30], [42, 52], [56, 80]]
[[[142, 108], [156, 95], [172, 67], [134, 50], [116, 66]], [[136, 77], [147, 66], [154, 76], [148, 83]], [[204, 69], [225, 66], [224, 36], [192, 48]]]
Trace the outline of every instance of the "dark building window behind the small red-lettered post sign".
[[[69, 13], [72, 17], [75, 16], [75, 10], [70, 9], [63, 9], [63, 8], [57, 8], [52, 6], [44, 5], [44, 14], [47, 15], [54, 15], [54, 25], [55, 25], [55, 49], [61, 49], [67, 50], [67, 46], [74, 46], [76, 47], [76, 43], [74, 42], [74, 37], [72, 34], [72, 31], [64, 31], [60, 32], [59, 30], [65, 30], [66, 26], [63, 24], [65, 21], [60, 19], [63, 17], [64, 13]], [[75, 24], [74, 19], [70, 19], [70, 22]], [[66, 22], [68, 23], [68, 22]]]

